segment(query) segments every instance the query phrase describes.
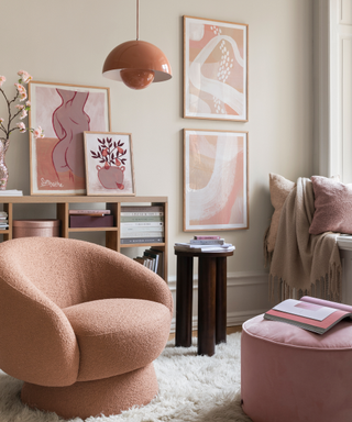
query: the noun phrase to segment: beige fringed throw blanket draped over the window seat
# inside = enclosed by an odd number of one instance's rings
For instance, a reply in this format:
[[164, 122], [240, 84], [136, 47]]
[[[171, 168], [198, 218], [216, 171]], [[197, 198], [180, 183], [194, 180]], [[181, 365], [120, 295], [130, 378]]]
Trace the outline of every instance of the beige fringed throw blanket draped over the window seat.
[[[341, 262], [337, 233], [309, 234], [315, 212], [310, 179], [299, 178], [288, 195], [278, 224], [271, 260], [273, 301], [304, 295], [341, 300]], [[265, 241], [264, 241], [265, 247]]]

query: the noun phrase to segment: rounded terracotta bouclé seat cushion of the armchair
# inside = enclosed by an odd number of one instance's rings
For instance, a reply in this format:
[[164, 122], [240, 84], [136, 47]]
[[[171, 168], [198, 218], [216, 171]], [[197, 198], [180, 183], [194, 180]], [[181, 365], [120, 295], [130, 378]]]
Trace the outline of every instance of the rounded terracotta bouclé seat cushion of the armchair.
[[94, 300], [63, 312], [79, 346], [78, 381], [142, 368], [161, 354], [169, 333], [169, 309], [148, 300]]

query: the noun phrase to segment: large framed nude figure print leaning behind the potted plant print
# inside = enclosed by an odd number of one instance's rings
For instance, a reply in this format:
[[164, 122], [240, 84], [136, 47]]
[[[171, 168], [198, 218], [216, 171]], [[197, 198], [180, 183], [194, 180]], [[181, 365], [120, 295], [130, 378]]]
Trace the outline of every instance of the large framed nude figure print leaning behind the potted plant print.
[[109, 88], [31, 81], [31, 195], [86, 193], [85, 131], [110, 131]]

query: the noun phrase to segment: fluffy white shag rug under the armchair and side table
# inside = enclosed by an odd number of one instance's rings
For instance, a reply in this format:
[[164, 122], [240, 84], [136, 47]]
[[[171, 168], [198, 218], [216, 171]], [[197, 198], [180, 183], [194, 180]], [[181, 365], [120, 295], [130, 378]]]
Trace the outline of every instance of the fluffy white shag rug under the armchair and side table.
[[[197, 356], [197, 340], [189, 348], [167, 343], [155, 360], [158, 395], [145, 407], [119, 415], [88, 418], [86, 422], [251, 422], [241, 409], [241, 334], [228, 336], [216, 354]], [[20, 400], [22, 381], [0, 371], [1, 422], [63, 422], [55, 413], [29, 409]], [[80, 418], [70, 422], [81, 422]]]

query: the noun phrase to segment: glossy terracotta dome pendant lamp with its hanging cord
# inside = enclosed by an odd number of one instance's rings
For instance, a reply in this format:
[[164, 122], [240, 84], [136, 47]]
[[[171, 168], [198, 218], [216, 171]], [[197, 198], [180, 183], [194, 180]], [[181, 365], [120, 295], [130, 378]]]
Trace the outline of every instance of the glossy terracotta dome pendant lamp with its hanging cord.
[[136, 0], [136, 40], [114, 47], [102, 67], [102, 75], [122, 80], [129, 88], [143, 89], [152, 82], [172, 78], [172, 67], [164, 53], [151, 43], [140, 41], [140, 0]]

